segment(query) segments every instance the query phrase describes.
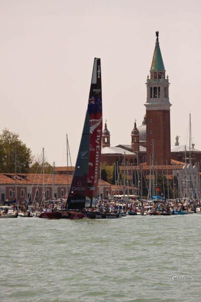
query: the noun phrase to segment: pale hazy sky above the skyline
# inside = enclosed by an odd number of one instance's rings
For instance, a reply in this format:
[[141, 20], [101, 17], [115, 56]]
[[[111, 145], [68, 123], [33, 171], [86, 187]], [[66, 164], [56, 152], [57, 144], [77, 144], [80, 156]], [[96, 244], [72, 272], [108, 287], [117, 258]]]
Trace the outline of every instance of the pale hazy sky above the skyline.
[[171, 144], [200, 138], [200, 0], [0, 0], [0, 131], [33, 155], [75, 164], [94, 57], [101, 58], [103, 123], [111, 146], [131, 143], [145, 114], [155, 32], [169, 76]]

